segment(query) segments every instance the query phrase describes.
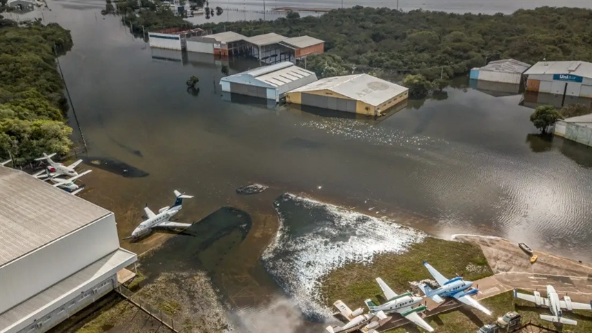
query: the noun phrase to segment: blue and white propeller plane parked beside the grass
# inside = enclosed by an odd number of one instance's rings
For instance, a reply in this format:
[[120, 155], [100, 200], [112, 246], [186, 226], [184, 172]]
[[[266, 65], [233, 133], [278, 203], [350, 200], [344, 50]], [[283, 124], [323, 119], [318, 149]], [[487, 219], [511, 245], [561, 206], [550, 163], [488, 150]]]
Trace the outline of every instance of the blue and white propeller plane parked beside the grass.
[[429, 263], [424, 261], [424, 266], [426, 266], [435, 281], [440, 285], [439, 288], [433, 290], [426, 283], [422, 283], [420, 289], [426, 294], [426, 296], [437, 303], [442, 303], [444, 301], [442, 297], [454, 297], [458, 301], [461, 301], [466, 305], [471, 305], [472, 307], [475, 307], [475, 309], [491, 316], [491, 311], [487, 310], [483, 305], [479, 304], [479, 302], [471, 297], [471, 295], [475, 295], [479, 292], [477, 287], [468, 290], [473, 287], [473, 282], [464, 281], [461, 276], [457, 276], [454, 279], [446, 279], [444, 275], [440, 274], [440, 272], [433, 268]]

